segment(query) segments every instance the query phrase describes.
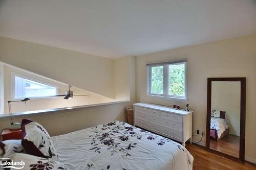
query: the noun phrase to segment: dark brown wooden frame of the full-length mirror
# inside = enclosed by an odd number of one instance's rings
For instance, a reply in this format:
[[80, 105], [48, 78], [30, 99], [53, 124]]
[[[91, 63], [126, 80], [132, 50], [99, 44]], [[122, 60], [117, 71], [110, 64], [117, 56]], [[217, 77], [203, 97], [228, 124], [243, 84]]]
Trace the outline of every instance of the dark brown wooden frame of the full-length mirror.
[[[207, 79], [207, 118], [206, 118], [206, 150], [220, 156], [240, 161], [244, 163], [245, 154], [245, 78], [208, 78]], [[239, 158], [210, 149], [210, 111], [211, 111], [211, 82], [225, 81], [225, 82], [241, 82], [241, 96], [240, 96], [240, 148]]]

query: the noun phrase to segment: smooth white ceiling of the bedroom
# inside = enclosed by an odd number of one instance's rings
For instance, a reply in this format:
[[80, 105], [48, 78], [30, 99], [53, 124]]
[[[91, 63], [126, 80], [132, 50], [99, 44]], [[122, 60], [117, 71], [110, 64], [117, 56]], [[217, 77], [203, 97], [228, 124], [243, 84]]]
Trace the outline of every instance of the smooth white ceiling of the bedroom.
[[0, 0], [0, 35], [117, 58], [256, 33], [254, 0]]

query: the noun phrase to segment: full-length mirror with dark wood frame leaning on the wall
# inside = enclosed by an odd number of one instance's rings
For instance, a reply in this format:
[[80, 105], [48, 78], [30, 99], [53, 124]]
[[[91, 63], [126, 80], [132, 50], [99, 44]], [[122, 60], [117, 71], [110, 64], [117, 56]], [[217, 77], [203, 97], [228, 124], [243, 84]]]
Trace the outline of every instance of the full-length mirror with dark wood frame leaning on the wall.
[[208, 78], [206, 147], [244, 161], [245, 78]]

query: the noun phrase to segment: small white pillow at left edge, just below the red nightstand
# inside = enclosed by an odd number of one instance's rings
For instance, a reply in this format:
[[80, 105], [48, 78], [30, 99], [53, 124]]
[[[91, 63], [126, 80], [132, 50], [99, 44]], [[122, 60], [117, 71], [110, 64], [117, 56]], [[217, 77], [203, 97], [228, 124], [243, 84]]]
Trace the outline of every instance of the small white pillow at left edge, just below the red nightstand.
[[21, 139], [13, 139], [13, 140], [4, 140], [0, 141], [0, 148], [3, 158], [7, 158], [12, 154], [15, 153], [25, 153], [25, 150], [22, 146], [22, 140]]

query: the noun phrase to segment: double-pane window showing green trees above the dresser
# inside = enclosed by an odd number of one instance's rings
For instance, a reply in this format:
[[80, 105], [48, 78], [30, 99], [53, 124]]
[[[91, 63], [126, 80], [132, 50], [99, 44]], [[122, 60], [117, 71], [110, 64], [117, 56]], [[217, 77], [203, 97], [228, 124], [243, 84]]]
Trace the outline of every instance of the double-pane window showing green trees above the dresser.
[[147, 64], [147, 93], [171, 98], [187, 98], [186, 60]]

